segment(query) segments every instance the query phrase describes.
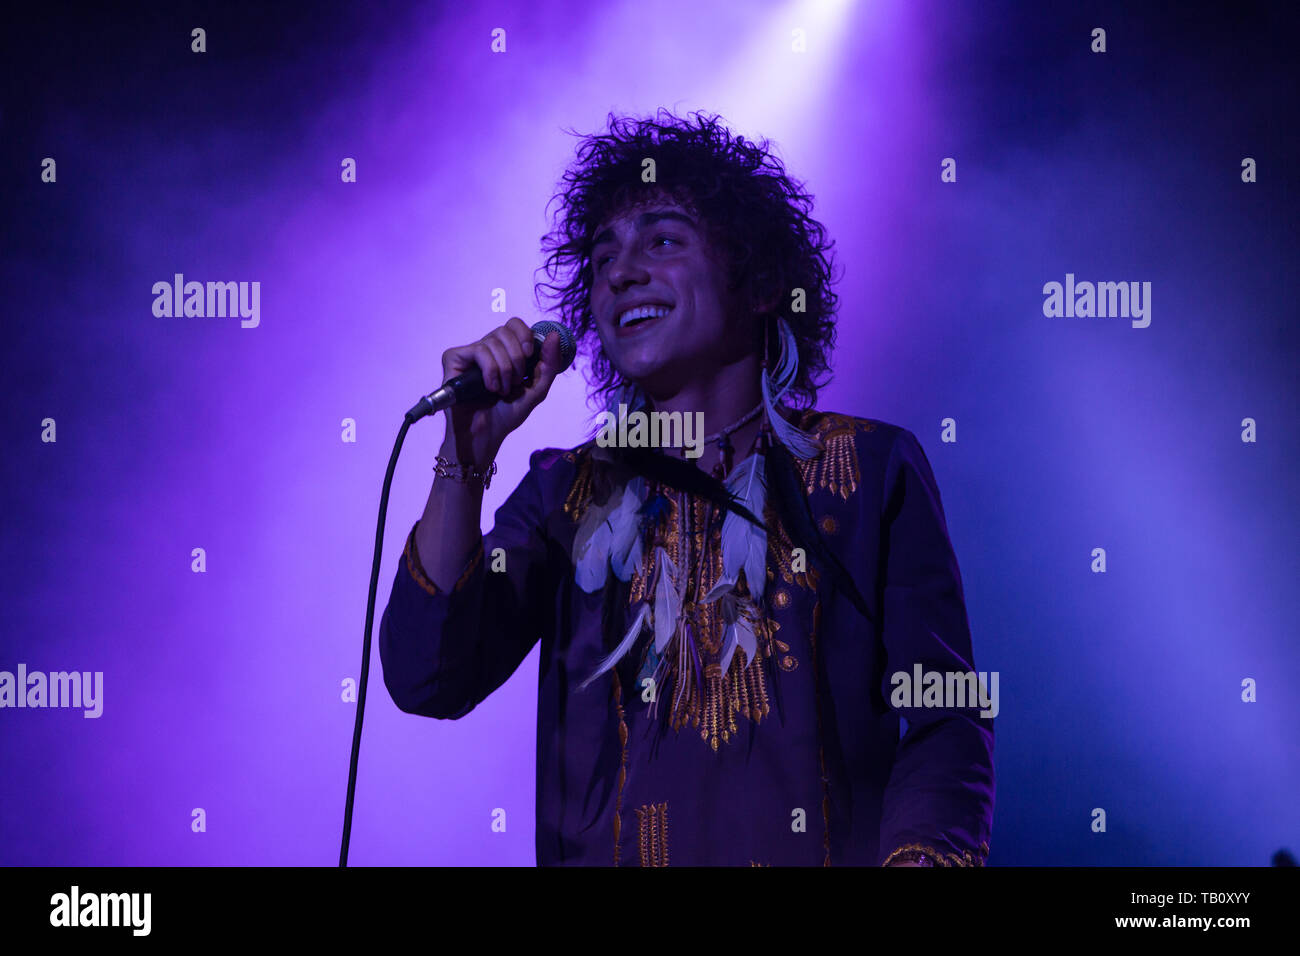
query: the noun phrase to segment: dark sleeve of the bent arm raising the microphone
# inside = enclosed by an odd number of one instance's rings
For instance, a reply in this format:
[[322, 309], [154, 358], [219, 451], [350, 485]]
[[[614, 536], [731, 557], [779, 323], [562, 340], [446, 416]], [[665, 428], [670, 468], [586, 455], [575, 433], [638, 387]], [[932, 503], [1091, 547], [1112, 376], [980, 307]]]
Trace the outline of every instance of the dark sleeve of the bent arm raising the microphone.
[[439, 589], [420, 566], [419, 522], [407, 535], [380, 622], [384, 684], [402, 710], [464, 717], [506, 683], [554, 624], [542, 454], [533, 453], [524, 480], [497, 509], [493, 529], [450, 591]]

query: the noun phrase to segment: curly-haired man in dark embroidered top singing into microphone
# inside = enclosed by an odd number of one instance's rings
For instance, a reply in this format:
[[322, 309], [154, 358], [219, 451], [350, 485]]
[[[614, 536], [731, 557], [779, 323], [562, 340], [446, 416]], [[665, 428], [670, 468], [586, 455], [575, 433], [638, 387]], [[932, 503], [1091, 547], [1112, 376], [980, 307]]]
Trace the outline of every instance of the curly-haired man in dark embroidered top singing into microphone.
[[[484, 536], [494, 459], [546, 397], [559, 337], [532, 369], [517, 317], [442, 356], [499, 401], [446, 412], [384, 680], [403, 710], [456, 719], [541, 643], [540, 864], [988, 853], [988, 711], [898, 695], [900, 675], [975, 669], [935, 476], [907, 429], [814, 408], [832, 243], [768, 146], [706, 114], [611, 116], [564, 174], [540, 287], [593, 397], [653, 415], [660, 447], [621, 431], [534, 451]], [[672, 446], [697, 412], [702, 455]]]

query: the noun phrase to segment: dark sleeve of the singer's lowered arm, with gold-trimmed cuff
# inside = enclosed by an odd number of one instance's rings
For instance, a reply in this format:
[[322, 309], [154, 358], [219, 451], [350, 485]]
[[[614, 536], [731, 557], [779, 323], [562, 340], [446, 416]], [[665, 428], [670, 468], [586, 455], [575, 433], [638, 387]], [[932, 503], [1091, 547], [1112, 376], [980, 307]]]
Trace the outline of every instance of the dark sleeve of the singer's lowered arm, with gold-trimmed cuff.
[[[880, 533], [881, 693], [907, 721], [884, 793], [880, 862], [982, 866], [994, 786], [993, 722], [980, 711], [996, 714], [996, 704], [985, 709], [972, 693], [914, 706], [918, 665], [922, 675], [941, 674], [945, 687], [953, 680], [949, 675], [971, 682], [975, 665], [939, 486], [926, 453], [906, 429], [900, 429], [885, 467]], [[907, 682], [894, 676], [900, 672]], [[952, 685], [956, 689], [956, 682]], [[971, 683], [966, 688], [974, 689]], [[985, 700], [996, 702], [997, 684], [987, 688]]]

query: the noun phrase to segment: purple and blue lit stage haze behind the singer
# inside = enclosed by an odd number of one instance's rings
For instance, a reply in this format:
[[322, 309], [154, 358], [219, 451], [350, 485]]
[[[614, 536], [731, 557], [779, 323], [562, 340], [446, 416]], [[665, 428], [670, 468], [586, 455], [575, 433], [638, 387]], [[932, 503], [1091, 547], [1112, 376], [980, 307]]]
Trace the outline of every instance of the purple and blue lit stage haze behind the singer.
[[[1288, 34], [1037, 7], [30, 14], [9, 42], [40, 82], [0, 116], [0, 671], [101, 672], [103, 713], [0, 709], [0, 864], [337, 861], [402, 412], [445, 349], [549, 317], [564, 129], [659, 107], [775, 140], [837, 242], [819, 407], [916, 433], [976, 667], [1006, 691], [989, 862], [1300, 849]], [[257, 282], [256, 325], [156, 315], [177, 273]], [[1046, 316], [1067, 274], [1149, 282], [1149, 325]], [[485, 529], [590, 414], [562, 376], [503, 447]], [[376, 630], [442, 431], [398, 463]], [[441, 722], [396, 709], [374, 649], [354, 865], [534, 862], [537, 661]]]

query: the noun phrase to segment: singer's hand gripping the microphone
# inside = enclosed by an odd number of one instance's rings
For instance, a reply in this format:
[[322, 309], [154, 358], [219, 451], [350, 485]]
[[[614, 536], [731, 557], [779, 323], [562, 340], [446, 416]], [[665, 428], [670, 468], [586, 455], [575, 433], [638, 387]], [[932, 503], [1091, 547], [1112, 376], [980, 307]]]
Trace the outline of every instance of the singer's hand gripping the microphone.
[[497, 457], [506, 436], [524, 424], [546, 398], [560, 371], [559, 333], [546, 337], [542, 358], [525, 384], [524, 362], [536, 347], [533, 330], [523, 319], [514, 316], [477, 342], [447, 349], [442, 354], [443, 381], [478, 365], [484, 386], [502, 395], [502, 401], [494, 405], [452, 405], [446, 410], [445, 455], [462, 464], [485, 467]]

